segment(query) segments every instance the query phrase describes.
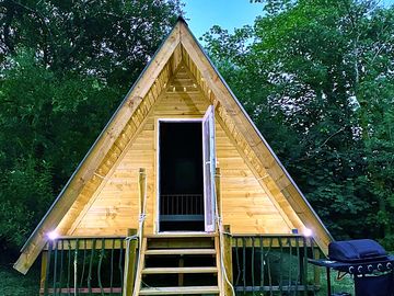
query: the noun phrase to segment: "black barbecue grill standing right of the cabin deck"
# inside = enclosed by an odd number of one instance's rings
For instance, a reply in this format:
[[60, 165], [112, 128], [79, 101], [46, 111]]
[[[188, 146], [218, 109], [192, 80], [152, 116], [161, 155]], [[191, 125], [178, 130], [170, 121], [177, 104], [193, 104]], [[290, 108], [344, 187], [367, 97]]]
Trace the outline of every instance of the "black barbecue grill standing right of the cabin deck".
[[328, 246], [328, 260], [310, 260], [327, 271], [327, 291], [332, 296], [331, 270], [350, 274], [356, 296], [394, 296], [394, 257], [370, 239], [335, 241]]

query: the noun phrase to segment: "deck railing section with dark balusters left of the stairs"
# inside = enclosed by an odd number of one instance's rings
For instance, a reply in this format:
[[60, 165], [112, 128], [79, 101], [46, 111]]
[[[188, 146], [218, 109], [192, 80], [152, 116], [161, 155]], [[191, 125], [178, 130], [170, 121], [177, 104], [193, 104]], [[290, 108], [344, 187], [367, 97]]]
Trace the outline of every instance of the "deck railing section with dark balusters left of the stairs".
[[40, 295], [121, 295], [125, 238], [61, 238], [43, 252]]

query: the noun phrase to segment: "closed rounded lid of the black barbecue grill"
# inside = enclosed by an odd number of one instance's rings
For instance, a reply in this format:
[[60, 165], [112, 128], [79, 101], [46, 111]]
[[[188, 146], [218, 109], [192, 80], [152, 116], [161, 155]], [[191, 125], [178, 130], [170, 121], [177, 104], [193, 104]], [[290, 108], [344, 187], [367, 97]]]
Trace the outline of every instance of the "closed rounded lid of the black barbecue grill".
[[355, 239], [329, 243], [328, 258], [341, 262], [361, 262], [387, 258], [387, 252], [374, 240]]

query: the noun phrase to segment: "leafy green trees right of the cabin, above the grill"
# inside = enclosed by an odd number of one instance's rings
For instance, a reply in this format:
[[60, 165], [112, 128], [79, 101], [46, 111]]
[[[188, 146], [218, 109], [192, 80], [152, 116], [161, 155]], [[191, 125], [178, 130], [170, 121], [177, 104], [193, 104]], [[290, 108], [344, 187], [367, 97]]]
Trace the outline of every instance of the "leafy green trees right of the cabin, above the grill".
[[254, 2], [253, 30], [213, 27], [209, 54], [335, 237], [393, 248], [394, 9]]

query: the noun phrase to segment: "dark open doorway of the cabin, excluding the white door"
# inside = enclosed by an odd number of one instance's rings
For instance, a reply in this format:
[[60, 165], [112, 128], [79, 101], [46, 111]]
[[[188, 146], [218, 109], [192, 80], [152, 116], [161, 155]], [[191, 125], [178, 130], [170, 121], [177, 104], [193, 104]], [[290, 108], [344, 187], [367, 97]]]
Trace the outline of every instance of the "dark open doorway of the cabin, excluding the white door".
[[159, 147], [160, 231], [204, 231], [201, 121], [160, 121]]

